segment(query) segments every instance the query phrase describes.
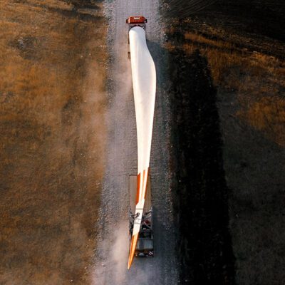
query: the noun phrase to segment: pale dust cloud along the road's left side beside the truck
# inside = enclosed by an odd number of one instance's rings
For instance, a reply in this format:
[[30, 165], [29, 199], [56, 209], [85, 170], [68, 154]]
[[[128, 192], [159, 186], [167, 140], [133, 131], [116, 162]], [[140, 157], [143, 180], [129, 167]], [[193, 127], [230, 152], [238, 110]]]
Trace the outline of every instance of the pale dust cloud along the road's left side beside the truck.
[[[126, 46], [125, 46], [126, 47]], [[96, 227], [99, 229], [98, 247], [95, 254], [93, 285], [126, 284], [128, 272], [128, 174], [125, 172], [126, 149], [133, 147], [136, 141], [128, 140], [135, 133], [135, 116], [128, 113], [132, 94], [130, 66], [127, 49], [123, 48], [116, 59], [117, 67], [109, 77], [109, 105], [105, 116], [108, 125], [108, 167], [103, 185], [102, 204]], [[116, 94], [114, 96], [114, 93]], [[134, 108], [132, 106], [131, 108]], [[129, 130], [126, 125], [132, 125]], [[135, 145], [135, 146], [132, 146]], [[134, 152], [133, 165], [136, 153]], [[125, 180], [125, 188], [122, 188]]]

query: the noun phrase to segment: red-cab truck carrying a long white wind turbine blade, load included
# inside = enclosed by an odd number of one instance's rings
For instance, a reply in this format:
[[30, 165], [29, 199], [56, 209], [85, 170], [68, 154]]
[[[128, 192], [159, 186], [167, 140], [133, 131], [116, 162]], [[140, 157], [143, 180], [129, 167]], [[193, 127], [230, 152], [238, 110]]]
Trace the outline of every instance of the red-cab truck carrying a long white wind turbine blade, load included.
[[138, 175], [130, 176], [129, 186], [130, 269], [134, 257], [153, 257], [150, 150], [155, 112], [156, 71], [145, 37], [147, 19], [144, 16], [130, 16], [126, 23], [138, 138]]

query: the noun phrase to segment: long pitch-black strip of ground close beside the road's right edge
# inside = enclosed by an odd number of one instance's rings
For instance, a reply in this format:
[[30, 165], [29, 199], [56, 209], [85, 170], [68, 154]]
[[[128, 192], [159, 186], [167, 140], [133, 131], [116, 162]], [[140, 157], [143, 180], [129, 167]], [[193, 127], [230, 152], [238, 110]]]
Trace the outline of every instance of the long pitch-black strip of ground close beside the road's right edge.
[[227, 185], [207, 59], [171, 54], [172, 167], [182, 284], [233, 284]]

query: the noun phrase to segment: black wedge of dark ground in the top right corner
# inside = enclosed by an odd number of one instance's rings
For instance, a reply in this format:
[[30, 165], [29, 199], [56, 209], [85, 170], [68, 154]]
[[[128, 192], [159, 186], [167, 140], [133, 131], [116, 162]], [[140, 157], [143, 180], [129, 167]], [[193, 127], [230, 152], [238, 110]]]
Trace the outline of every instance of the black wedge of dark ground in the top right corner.
[[[167, 16], [217, 22], [242, 32], [285, 40], [285, 4], [282, 0], [168, 0]], [[237, 30], [235, 31], [237, 32]]]

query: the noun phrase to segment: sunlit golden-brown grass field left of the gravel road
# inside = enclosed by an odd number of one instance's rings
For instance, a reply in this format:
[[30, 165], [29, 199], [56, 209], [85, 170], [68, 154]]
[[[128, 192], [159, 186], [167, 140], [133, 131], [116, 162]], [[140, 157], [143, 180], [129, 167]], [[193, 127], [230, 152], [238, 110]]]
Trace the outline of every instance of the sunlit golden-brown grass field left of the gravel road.
[[0, 1], [0, 284], [91, 283], [106, 106], [94, 2]]

